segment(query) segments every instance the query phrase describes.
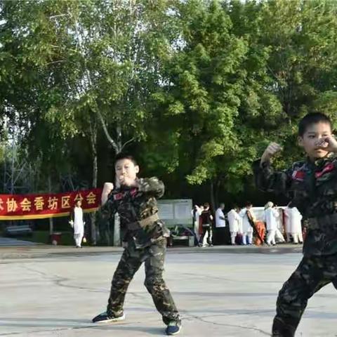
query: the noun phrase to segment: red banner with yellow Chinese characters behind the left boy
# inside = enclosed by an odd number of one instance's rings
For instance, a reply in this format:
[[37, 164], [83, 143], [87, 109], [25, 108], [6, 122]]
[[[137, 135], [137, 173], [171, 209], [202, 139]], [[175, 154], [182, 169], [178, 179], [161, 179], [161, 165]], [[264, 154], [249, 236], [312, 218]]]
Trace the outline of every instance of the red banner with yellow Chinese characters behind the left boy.
[[68, 216], [77, 200], [84, 212], [100, 206], [101, 188], [58, 194], [0, 194], [0, 220], [27, 220]]

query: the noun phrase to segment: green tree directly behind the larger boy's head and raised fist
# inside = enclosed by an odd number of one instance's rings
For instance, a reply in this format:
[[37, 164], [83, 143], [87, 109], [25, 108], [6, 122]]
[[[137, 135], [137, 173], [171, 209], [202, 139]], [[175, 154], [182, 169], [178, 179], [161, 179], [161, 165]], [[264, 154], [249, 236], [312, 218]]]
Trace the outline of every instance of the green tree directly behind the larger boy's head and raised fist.
[[276, 161], [278, 167], [300, 158], [300, 149], [294, 145], [298, 121], [305, 113], [319, 110], [334, 117], [336, 3], [230, 1], [224, 8], [234, 34], [249, 45], [239, 114], [239, 157], [244, 160], [238, 162], [233, 157], [230, 161], [234, 164], [232, 177], [242, 183], [243, 174], [251, 175], [251, 159], [262, 154], [271, 140], [284, 145], [284, 154]]

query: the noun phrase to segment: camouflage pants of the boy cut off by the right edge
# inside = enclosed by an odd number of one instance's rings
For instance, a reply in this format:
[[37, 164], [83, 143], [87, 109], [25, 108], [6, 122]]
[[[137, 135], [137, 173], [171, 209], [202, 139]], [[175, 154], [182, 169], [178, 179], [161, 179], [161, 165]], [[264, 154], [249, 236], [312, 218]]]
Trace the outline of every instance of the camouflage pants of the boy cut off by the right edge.
[[337, 285], [337, 255], [303, 257], [279, 291], [272, 336], [293, 337], [308, 299], [326, 284]]

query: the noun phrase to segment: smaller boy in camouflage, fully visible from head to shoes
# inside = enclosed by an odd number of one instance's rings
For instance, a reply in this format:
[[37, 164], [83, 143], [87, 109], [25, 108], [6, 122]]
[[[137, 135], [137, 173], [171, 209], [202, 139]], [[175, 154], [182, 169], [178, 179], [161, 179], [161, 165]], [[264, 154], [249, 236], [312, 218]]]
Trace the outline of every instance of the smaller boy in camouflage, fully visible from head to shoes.
[[106, 312], [93, 322], [116, 322], [125, 318], [124, 298], [133, 275], [145, 262], [145, 286], [167, 325], [166, 334], [180, 331], [180, 316], [162, 273], [166, 238], [169, 230], [159, 219], [156, 198], [164, 194], [164, 184], [157, 178], [137, 178], [139, 166], [133, 157], [117, 155], [115, 171], [119, 187], [105, 183], [100, 212], [110, 218], [118, 212], [124, 234], [124, 253], [112, 278]]

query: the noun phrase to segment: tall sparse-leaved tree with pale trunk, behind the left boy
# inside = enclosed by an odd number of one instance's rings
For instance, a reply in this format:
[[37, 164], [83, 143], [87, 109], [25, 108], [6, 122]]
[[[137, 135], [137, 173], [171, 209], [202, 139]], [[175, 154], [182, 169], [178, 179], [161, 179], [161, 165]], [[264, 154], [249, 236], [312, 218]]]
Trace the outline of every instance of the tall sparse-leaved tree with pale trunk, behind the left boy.
[[[97, 185], [98, 132], [114, 152], [145, 138], [148, 98], [171, 48], [171, 1], [11, 1], [1, 27], [8, 93], [46, 171], [67, 163], [67, 139], [86, 136]], [[20, 97], [20, 99], [18, 99]], [[22, 118], [25, 117], [25, 118]], [[56, 161], [56, 163], [55, 163]], [[94, 228], [94, 227], [93, 227]], [[93, 233], [93, 237], [95, 234]]]

